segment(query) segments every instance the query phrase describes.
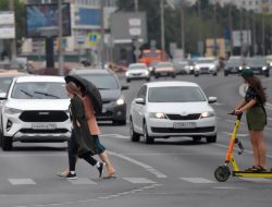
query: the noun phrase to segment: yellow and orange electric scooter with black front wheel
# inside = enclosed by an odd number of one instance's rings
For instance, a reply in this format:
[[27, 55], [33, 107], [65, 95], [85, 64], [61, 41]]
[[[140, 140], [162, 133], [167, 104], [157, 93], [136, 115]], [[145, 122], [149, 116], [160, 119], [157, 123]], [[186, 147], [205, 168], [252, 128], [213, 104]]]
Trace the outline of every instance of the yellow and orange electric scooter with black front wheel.
[[[214, 176], [219, 182], [225, 182], [231, 175], [232, 176], [240, 176], [240, 178], [272, 178], [272, 169], [270, 171], [263, 172], [255, 172], [250, 170], [239, 170], [237, 162], [233, 156], [233, 149], [235, 145], [238, 145], [238, 155], [242, 155], [244, 151], [244, 147], [242, 142], [237, 138], [237, 131], [240, 125], [240, 120], [243, 113], [235, 114], [234, 112], [230, 113], [232, 115], [236, 115], [237, 119], [235, 121], [235, 126], [233, 129], [233, 133], [231, 136], [231, 142], [228, 145], [228, 149], [225, 156], [225, 162], [222, 166], [219, 166], [214, 170]], [[232, 170], [230, 169], [230, 165], [232, 166]]]

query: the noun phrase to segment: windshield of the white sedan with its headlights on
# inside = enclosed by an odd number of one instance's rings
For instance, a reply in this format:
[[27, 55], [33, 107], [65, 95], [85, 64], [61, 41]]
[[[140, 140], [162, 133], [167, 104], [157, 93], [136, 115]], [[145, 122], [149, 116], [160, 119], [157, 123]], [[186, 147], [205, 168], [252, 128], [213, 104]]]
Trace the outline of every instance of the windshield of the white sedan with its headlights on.
[[196, 86], [150, 87], [149, 102], [199, 102], [206, 101], [201, 89]]

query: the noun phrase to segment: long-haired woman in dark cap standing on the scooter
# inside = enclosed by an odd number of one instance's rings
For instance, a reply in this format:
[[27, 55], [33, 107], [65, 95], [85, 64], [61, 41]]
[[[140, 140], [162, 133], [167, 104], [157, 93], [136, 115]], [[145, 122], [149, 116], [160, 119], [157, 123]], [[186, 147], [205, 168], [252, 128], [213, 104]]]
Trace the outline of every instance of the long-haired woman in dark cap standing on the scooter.
[[249, 137], [254, 151], [254, 166], [249, 171], [267, 171], [267, 149], [263, 141], [263, 129], [267, 124], [267, 112], [264, 104], [267, 95], [260, 80], [254, 75], [250, 69], [242, 71], [244, 82], [248, 84], [248, 89], [243, 99], [235, 109], [235, 113], [246, 111], [246, 120], [249, 131]]

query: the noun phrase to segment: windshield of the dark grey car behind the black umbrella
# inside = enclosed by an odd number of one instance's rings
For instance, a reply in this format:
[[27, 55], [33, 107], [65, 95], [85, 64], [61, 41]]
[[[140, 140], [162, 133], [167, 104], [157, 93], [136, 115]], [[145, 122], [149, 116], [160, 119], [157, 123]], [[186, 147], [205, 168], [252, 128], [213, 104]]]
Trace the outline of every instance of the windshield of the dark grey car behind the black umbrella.
[[84, 77], [95, 84], [98, 89], [118, 89], [119, 84], [113, 75], [108, 74], [84, 74]]

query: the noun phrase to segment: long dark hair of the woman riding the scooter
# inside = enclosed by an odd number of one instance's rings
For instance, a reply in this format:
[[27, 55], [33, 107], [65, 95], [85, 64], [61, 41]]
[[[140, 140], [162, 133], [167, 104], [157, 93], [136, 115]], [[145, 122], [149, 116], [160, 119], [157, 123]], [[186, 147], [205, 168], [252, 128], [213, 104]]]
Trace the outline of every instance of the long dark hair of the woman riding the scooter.
[[262, 87], [260, 78], [255, 75], [246, 76], [244, 78], [255, 89], [258, 97], [260, 98], [261, 104], [264, 105], [267, 102], [267, 94], [264, 92], [267, 88]]

